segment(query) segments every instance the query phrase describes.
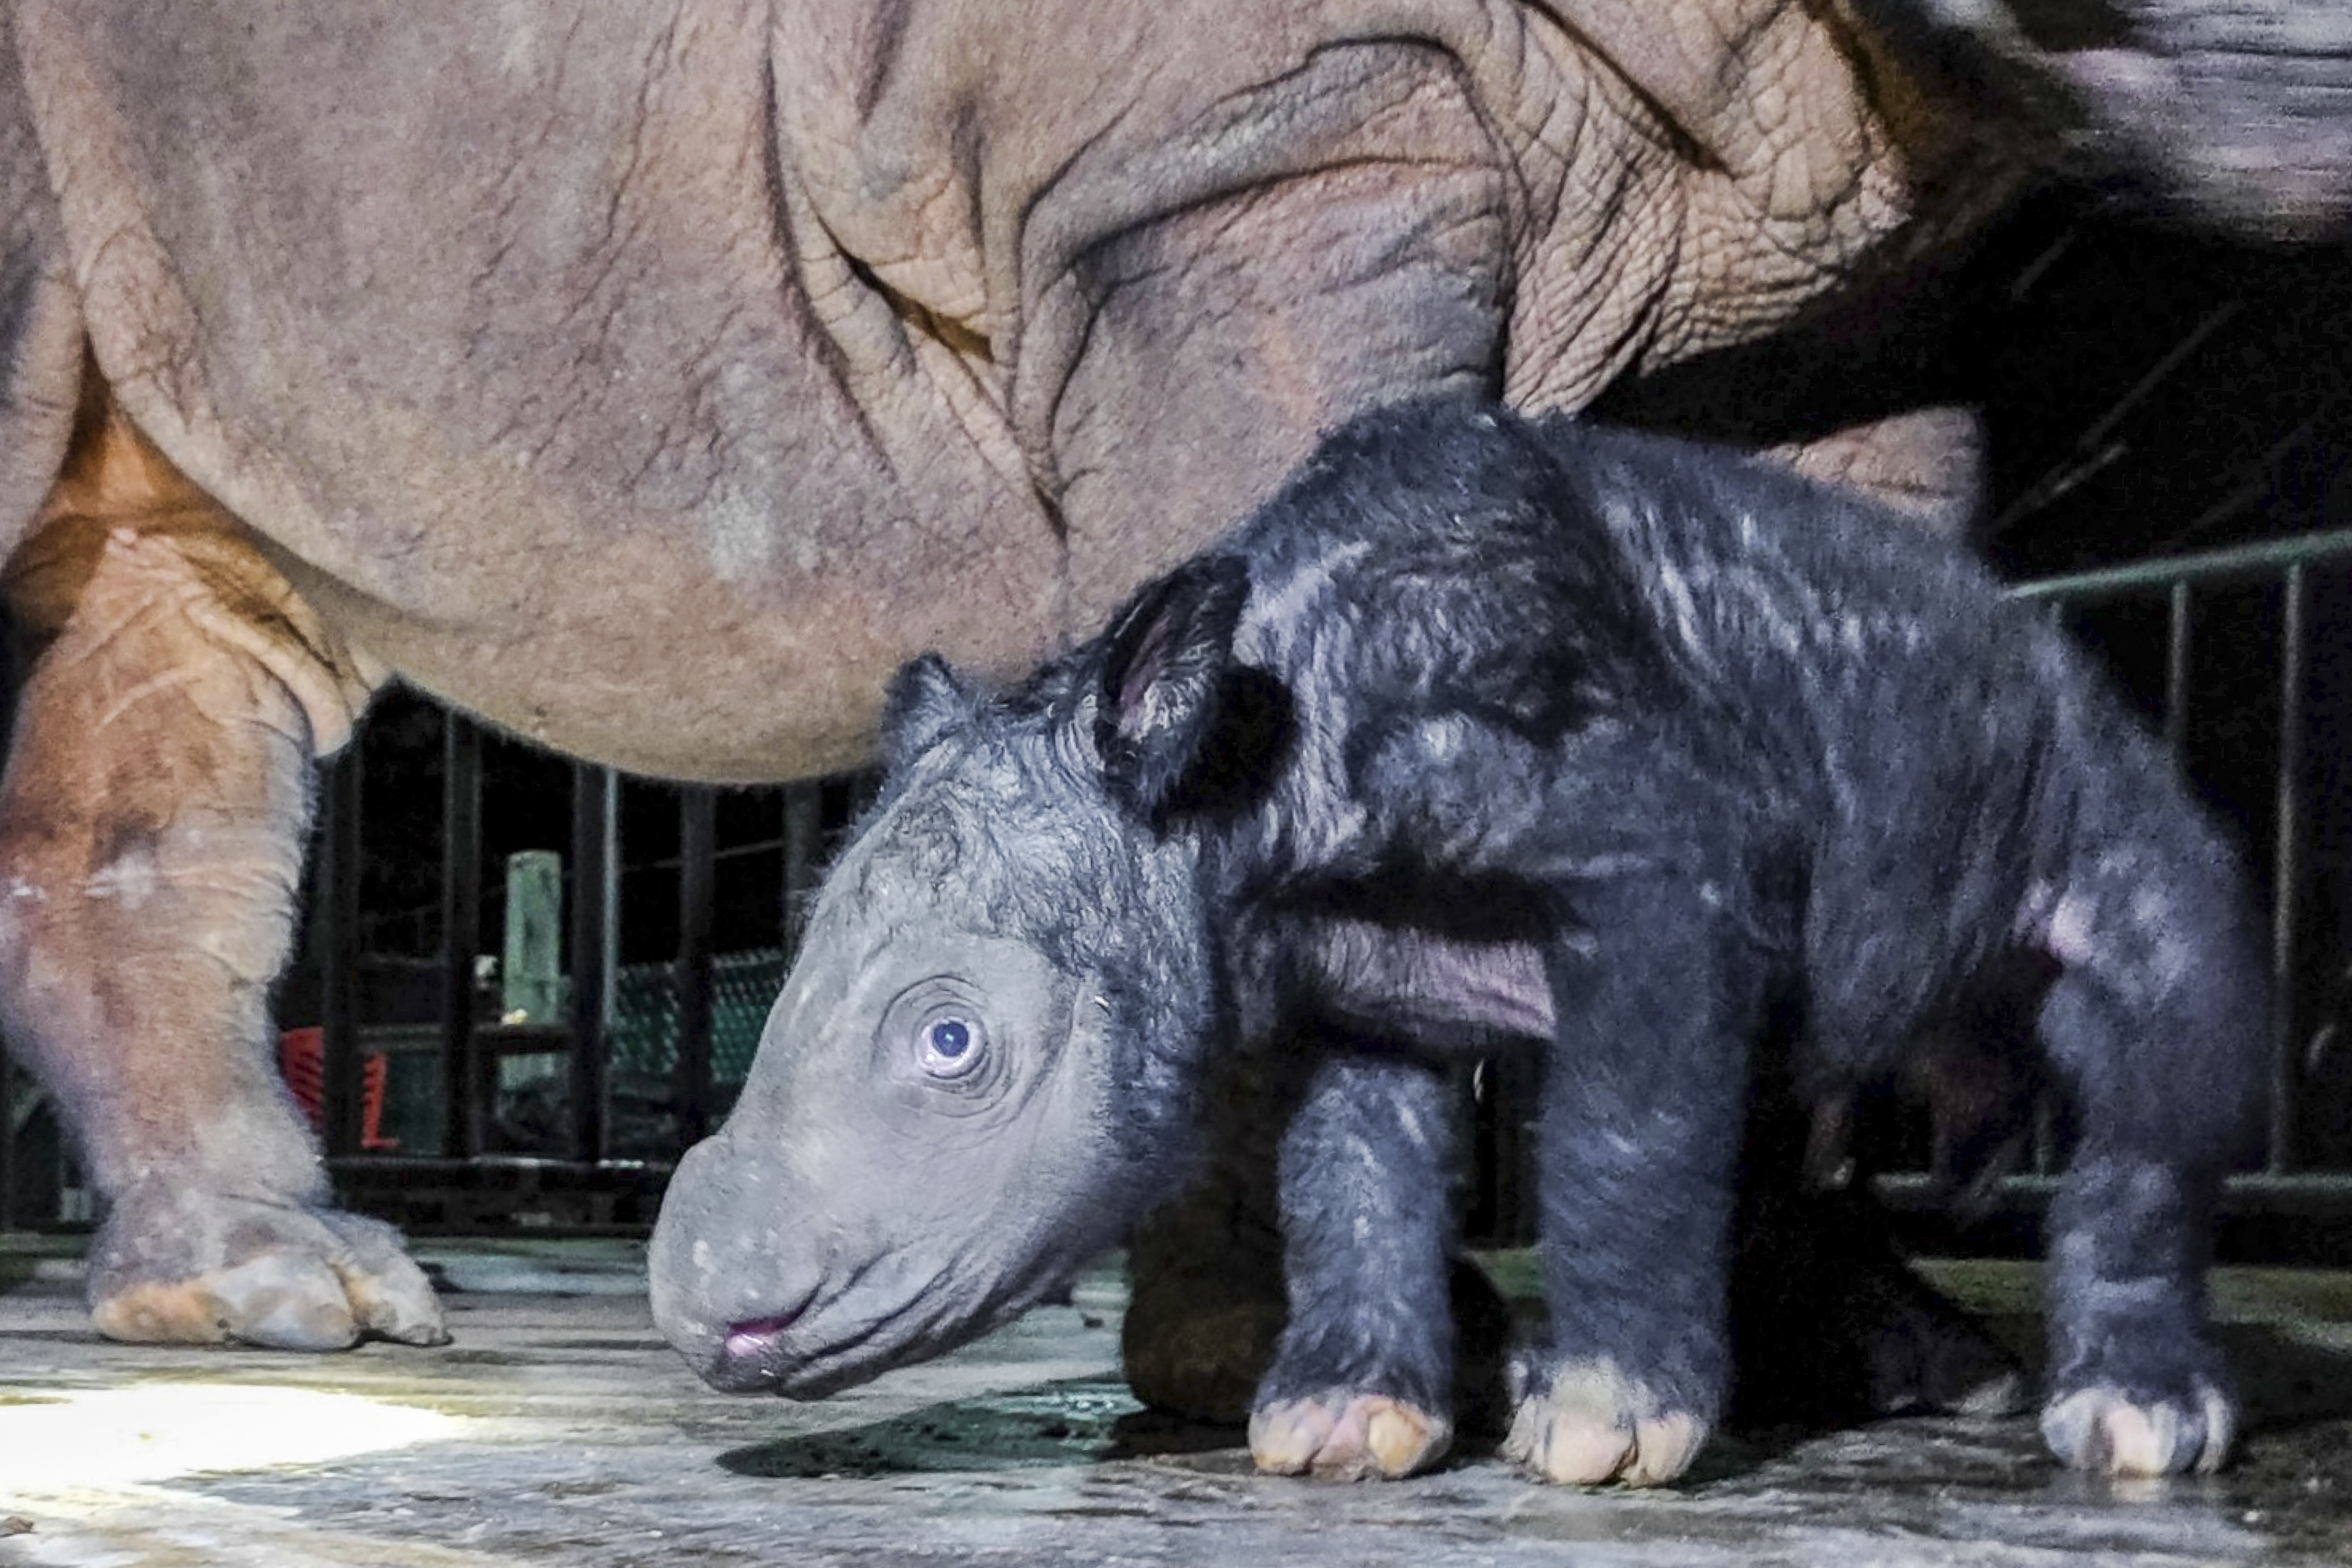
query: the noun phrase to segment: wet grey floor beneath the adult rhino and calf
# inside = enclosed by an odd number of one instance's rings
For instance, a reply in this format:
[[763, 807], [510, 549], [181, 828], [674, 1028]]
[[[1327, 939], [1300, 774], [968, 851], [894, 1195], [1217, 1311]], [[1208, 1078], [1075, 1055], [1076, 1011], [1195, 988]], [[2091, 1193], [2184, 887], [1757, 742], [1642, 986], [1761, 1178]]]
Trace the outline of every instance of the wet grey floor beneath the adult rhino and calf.
[[[2352, 1563], [2352, 1276], [2232, 1272], [2253, 1406], [2213, 1481], [2060, 1474], [2030, 1420], [1719, 1441], [1679, 1488], [1251, 1474], [1141, 1415], [1120, 1286], [816, 1406], [706, 1392], [626, 1244], [426, 1246], [456, 1345], [343, 1356], [96, 1340], [71, 1258], [0, 1248], [0, 1563]], [[1933, 1269], [2030, 1333], [2030, 1274]], [[31, 1274], [31, 1279], [28, 1279]], [[7, 1284], [14, 1279], [14, 1288]]]

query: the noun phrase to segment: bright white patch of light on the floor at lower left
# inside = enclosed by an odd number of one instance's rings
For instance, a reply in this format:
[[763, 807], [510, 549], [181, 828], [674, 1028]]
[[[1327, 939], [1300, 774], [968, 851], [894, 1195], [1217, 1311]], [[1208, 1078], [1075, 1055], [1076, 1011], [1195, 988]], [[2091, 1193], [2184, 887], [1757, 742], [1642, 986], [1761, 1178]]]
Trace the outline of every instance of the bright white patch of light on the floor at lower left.
[[0, 1490], [310, 1465], [454, 1436], [456, 1415], [358, 1394], [160, 1382], [0, 1406]]

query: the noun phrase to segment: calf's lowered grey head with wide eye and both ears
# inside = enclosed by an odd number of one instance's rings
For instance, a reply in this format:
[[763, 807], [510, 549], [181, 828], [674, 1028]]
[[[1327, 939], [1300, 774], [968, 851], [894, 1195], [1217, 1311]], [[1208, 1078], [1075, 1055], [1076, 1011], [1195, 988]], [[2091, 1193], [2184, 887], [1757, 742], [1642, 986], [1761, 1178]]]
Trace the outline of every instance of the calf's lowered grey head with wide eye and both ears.
[[1152, 823], [1244, 592], [1188, 569], [1000, 701], [901, 670], [882, 797], [654, 1227], [706, 1380], [814, 1399], [950, 1349], [1164, 1192], [1214, 985], [1197, 846]]

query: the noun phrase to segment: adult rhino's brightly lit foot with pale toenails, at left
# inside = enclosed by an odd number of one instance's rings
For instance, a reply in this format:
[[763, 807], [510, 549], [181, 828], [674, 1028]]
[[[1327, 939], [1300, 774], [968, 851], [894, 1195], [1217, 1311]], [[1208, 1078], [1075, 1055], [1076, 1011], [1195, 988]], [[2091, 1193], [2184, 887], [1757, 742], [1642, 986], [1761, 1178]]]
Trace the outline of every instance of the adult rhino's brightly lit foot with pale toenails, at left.
[[162, 1185], [115, 1197], [89, 1253], [89, 1316], [108, 1340], [139, 1345], [449, 1342], [390, 1225]]

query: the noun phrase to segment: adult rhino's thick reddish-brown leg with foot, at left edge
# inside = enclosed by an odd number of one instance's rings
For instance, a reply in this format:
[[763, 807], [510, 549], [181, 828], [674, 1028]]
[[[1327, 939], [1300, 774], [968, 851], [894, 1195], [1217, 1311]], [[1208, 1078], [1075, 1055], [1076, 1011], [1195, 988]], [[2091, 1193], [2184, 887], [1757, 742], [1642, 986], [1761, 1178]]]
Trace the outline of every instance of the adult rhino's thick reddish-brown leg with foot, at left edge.
[[268, 1048], [310, 762], [367, 682], [235, 520], [101, 411], [9, 602], [47, 642], [0, 785], [0, 1018], [106, 1199], [99, 1331], [447, 1340], [397, 1232], [329, 1206]]

